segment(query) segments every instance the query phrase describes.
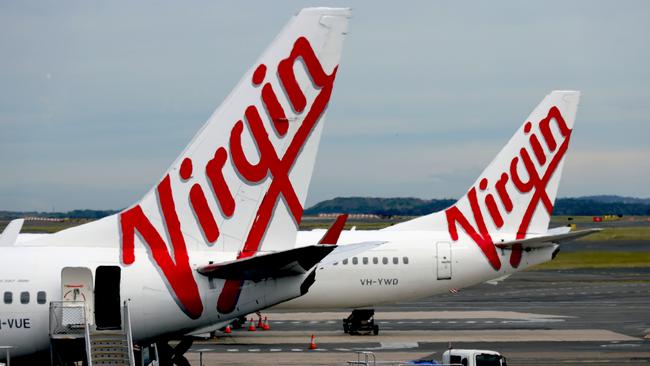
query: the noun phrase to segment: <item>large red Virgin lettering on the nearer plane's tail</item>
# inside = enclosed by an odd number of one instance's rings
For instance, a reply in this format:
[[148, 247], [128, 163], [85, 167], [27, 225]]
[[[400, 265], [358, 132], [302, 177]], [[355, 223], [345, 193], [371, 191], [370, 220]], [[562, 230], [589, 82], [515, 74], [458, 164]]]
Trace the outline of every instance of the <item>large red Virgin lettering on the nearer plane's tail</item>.
[[[297, 62], [304, 66], [313, 87], [319, 89], [310, 106], [296, 80], [294, 65]], [[334, 68], [331, 74], [327, 74], [309, 41], [304, 37], [298, 38], [290, 55], [280, 61], [277, 67], [277, 77], [289, 104], [295, 113], [301, 115], [302, 123], [293, 135], [284, 155], [278, 156], [278, 152], [269, 139], [269, 132], [264, 126], [260, 109], [251, 105], [243, 111], [243, 119], [237, 121], [230, 131], [229, 146], [216, 148], [214, 157], [204, 167], [204, 173], [210, 185], [210, 189], [207, 191], [214, 194], [206, 195], [206, 190], [199, 183], [194, 183], [190, 188], [189, 205], [204, 234], [206, 244], [211, 245], [219, 238], [217, 220], [208, 205], [208, 200], [216, 200], [225, 219], [237, 213], [231, 187], [228, 186], [223, 174], [223, 167], [228, 158], [231, 159], [237, 173], [248, 183], [256, 184], [271, 179], [268, 190], [257, 209], [244, 247], [239, 253], [239, 258], [250, 257], [258, 251], [280, 196], [283, 197], [295, 222], [300, 223], [303, 207], [289, 180], [289, 173], [302, 147], [327, 108], [337, 68]], [[267, 66], [261, 64], [253, 73], [251, 81], [255, 88], [261, 87], [263, 114], [272, 121], [276, 133], [284, 138], [288, 131], [288, 119], [278, 99], [278, 95], [282, 94], [276, 93], [270, 82], [265, 82], [266, 76]], [[247, 125], [259, 152], [259, 161], [256, 163], [251, 163], [244, 153], [242, 146], [244, 124]], [[189, 184], [193, 171], [192, 160], [185, 158], [179, 170], [180, 179]], [[196, 319], [203, 313], [203, 302], [189, 264], [187, 247], [178, 219], [170, 179], [169, 175], [165, 176], [158, 184], [156, 193], [163, 213], [164, 225], [169, 233], [173, 254], [170, 253], [163, 237], [151, 224], [140, 205], [137, 205], [120, 215], [122, 261], [126, 265], [135, 261], [134, 240], [137, 231], [179, 307], [190, 318]], [[241, 285], [242, 282], [239, 280], [226, 281], [217, 302], [217, 310], [220, 313], [230, 313], [235, 309]]]

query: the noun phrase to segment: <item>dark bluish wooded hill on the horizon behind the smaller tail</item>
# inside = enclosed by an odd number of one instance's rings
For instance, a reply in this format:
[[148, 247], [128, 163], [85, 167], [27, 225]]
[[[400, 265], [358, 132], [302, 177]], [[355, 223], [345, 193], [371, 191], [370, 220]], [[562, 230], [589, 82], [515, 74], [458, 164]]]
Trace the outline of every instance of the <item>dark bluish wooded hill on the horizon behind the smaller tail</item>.
[[[443, 210], [456, 199], [337, 197], [322, 201], [305, 210], [307, 215], [321, 213], [368, 213], [382, 216], [421, 216]], [[650, 199], [591, 196], [559, 198], [554, 215], [650, 215]]]

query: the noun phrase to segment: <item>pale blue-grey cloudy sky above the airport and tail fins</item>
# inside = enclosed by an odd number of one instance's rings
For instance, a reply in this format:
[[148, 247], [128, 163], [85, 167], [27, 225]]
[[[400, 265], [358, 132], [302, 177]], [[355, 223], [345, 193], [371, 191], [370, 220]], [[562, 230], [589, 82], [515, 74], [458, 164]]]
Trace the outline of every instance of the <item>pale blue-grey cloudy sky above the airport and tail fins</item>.
[[647, 1], [3, 1], [0, 210], [152, 187], [304, 6], [353, 9], [307, 205], [462, 196], [555, 89], [560, 197], [650, 197]]

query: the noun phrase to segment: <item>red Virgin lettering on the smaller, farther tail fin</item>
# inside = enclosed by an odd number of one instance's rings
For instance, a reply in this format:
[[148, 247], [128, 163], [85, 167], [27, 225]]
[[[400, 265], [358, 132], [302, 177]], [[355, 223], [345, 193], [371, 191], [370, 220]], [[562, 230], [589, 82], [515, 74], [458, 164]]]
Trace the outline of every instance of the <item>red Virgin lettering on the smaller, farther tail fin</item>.
[[[556, 136], [554, 136], [551, 130], [551, 122], [555, 122], [559, 130], [560, 141], [556, 140]], [[471, 208], [471, 217], [474, 219], [475, 226], [470, 223], [465, 214], [457, 206], [452, 206], [445, 211], [449, 234], [452, 240], [458, 240], [458, 225], [460, 225], [465, 233], [479, 246], [495, 270], [501, 268], [501, 261], [499, 260], [483, 215], [487, 211], [494, 226], [497, 229], [503, 227], [504, 216], [510, 214], [513, 210], [513, 202], [506, 188], [511, 186], [517, 194], [532, 192], [531, 199], [528, 202], [517, 229], [517, 239], [526, 237], [533, 214], [537, 207], [540, 206], [540, 203], [549, 216], [553, 211], [553, 203], [548, 197], [546, 186], [566, 153], [572, 130], [567, 127], [560, 110], [555, 106], [549, 109], [547, 116], [539, 121], [537, 127], [541, 132], [542, 140], [550, 154], [547, 155], [540, 143], [539, 137], [532, 132], [533, 123], [530, 121], [526, 122], [524, 125], [524, 133], [528, 136], [529, 145], [521, 147], [519, 154], [512, 158], [508, 171], [501, 173], [500, 178], [496, 182], [491, 183], [486, 178], [481, 179], [479, 186], [472, 187], [467, 193], [467, 199]], [[537, 164], [540, 167], [546, 166], [544, 171], [537, 170], [529, 149], [532, 150], [532, 155], [535, 156]], [[527, 180], [521, 178], [520, 170], [525, 172], [524, 176], [527, 177]], [[487, 193], [484, 195], [482, 201], [479, 201], [478, 192], [485, 192], [490, 184], [493, 185], [496, 195]], [[502, 212], [499, 206], [497, 206], [497, 199], [505, 209], [505, 212]], [[520, 261], [521, 246], [515, 245], [510, 255], [510, 264], [513, 267], [518, 267]]]

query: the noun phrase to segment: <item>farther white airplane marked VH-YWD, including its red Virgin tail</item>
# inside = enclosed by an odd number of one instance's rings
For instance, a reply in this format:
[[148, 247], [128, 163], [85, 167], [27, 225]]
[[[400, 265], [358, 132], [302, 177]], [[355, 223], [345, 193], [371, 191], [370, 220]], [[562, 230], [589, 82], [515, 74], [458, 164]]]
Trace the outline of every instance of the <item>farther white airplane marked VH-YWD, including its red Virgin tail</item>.
[[[549, 261], [560, 242], [593, 232], [548, 228], [579, 97], [577, 91], [547, 95], [451, 207], [383, 230], [340, 233], [342, 246], [385, 244], [319, 266], [309, 293], [278, 307], [372, 308], [456, 293]], [[300, 232], [298, 243], [316, 243], [322, 235]]]

